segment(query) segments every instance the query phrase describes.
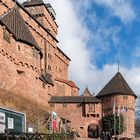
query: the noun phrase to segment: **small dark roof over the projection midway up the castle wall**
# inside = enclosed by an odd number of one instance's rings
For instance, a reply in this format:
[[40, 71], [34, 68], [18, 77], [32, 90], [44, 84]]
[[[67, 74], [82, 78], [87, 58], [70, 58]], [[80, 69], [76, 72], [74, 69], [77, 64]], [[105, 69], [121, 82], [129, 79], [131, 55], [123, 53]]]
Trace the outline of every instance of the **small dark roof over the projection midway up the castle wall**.
[[42, 73], [40, 76], [40, 80], [42, 80], [45, 84], [54, 86], [51, 75], [49, 73]]

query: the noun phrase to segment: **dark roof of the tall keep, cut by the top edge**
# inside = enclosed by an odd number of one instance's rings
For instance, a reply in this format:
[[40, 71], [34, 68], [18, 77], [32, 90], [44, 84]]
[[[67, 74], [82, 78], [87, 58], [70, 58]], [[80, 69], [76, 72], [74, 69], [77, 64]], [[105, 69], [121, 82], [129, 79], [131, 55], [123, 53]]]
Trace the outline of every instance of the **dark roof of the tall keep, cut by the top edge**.
[[38, 5], [44, 5], [44, 2], [42, 0], [30, 0], [30, 1], [25, 1], [23, 6], [38, 6]]

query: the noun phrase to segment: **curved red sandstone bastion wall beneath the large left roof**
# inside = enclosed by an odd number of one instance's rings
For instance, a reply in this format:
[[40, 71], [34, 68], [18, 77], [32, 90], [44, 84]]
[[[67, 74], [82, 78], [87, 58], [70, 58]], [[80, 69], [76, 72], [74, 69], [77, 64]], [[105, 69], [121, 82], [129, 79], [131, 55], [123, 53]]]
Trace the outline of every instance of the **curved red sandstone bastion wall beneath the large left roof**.
[[1, 88], [19, 93], [25, 98], [38, 100], [47, 106], [48, 89], [42, 88], [42, 82], [39, 80], [39, 55], [35, 58], [31, 46], [16, 42], [13, 37], [10, 37], [11, 41], [8, 43], [3, 39], [3, 30], [5, 29], [0, 27], [0, 78], [3, 82]]

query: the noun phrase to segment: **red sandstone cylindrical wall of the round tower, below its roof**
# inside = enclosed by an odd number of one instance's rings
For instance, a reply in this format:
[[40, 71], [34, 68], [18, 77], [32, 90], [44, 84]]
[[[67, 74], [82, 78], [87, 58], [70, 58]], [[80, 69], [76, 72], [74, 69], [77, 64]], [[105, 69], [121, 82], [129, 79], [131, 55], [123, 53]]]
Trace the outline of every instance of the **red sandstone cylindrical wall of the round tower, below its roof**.
[[122, 136], [134, 137], [134, 111], [135, 111], [135, 97], [129, 95], [114, 95], [110, 97], [104, 97], [102, 106], [103, 106], [103, 115], [110, 114], [113, 112], [114, 101], [116, 101], [116, 113], [118, 112], [118, 106], [128, 107], [128, 112], [124, 112], [124, 133]]

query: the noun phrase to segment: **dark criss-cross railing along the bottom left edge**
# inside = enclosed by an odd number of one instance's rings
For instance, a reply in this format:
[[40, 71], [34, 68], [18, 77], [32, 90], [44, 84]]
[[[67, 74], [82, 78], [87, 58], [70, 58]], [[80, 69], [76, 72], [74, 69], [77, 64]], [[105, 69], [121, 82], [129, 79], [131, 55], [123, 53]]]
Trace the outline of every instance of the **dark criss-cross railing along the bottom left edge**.
[[3, 133], [0, 140], [74, 140], [74, 134]]

